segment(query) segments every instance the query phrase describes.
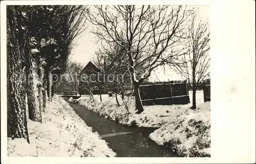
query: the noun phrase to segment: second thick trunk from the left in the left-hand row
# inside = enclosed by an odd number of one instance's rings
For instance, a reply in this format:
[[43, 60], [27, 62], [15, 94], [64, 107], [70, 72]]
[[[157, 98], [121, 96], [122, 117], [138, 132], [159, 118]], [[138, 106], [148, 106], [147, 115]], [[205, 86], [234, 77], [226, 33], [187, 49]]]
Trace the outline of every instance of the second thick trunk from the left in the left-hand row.
[[36, 105], [34, 82], [32, 75], [32, 57], [29, 51], [28, 41], [25, 41], [25, 58], [26, 58], [26, 89], [27, 89], [27, 99], [28, 99], [28, 111], [29, 119], [35, 122], [42, 123], [42, 116], [39, 107]]

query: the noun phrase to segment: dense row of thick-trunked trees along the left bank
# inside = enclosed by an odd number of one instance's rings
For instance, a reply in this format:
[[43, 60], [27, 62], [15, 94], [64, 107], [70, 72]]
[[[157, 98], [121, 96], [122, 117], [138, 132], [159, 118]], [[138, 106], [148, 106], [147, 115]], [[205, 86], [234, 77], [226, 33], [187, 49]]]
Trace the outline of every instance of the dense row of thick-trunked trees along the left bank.
[[52, 101], [52, 74], [65, 71], [86, 6], [7, 6], [8, 137], [29, 143], [28, 118], [42, 122]]

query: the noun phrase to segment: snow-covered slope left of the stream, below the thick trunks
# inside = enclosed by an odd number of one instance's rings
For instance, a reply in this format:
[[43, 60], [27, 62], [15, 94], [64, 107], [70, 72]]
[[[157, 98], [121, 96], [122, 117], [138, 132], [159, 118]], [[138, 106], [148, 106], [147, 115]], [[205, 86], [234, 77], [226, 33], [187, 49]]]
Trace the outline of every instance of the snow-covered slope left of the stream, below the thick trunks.
[[53, 97], [42, 120], [42, 124], [28, 120], [30, 144], [24, 138], [8, 138], [8, 156], [116, 156], [61, 97]]

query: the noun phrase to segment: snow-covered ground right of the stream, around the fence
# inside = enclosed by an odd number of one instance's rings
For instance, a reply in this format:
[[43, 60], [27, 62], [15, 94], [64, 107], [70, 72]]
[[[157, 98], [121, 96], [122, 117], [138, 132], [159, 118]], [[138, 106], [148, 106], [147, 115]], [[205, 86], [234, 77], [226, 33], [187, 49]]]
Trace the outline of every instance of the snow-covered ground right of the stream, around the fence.
[[[192, 102], [192, 91], [189, 91]], [[80, 98], [79, 104], [104, 116], [106, 119], [118, 121], [128, 126], [158, 127], [150, 137], [159, 145], [171, 146], [181, 156], [210, 156], [210, 102], [204, 103], [203, 91], [197, 91], [196, 110], [191, 110], [191, 103], [186, 105], [152, 105], [144, 106], [144, 111], [135, 113], [135, 101], [131, 100], [127, 114], [122, 100], [118, 97], [94, 96]]]

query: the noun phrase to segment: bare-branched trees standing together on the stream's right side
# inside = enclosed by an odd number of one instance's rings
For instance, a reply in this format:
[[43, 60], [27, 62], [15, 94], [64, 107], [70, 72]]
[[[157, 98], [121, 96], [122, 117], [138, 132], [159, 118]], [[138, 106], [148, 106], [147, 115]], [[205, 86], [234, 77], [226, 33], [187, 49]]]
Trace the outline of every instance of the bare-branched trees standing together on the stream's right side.
[[[209, 26], [186, 6], [94, 6], [88, 12], [102, 44], [95, 63], [103, 74], [124, 75], [114, 92], [132, 84], [138, 113], [143, 112], [139, 86], [159, 66], [169, 66], [196, 90], [209, 75]], [[92, 85], [90, 85], [92, 86]]]

